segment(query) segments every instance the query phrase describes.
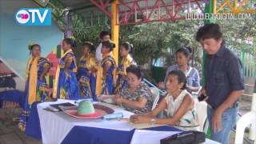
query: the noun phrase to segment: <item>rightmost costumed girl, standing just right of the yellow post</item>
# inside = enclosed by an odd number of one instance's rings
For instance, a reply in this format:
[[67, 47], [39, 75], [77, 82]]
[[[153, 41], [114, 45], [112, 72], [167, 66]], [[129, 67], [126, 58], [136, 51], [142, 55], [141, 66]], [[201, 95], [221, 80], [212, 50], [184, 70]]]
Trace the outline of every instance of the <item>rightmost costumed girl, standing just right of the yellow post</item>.
[[118, 94], [118, 92], [122, 90], [124, 86], [127, 86], [126, 68], [129, 67], [130, 65], [136, 65], [134, 58], [130, 56], [132, 49], [133, 49], [133, 46], [129, 42], [122, 43], [120, 46], [119, 54], [122, 58], [122, 62], [119, 64], [117, 69], [118, 81], [117, 81], [117, 86], [114, 90], [114, 94]]

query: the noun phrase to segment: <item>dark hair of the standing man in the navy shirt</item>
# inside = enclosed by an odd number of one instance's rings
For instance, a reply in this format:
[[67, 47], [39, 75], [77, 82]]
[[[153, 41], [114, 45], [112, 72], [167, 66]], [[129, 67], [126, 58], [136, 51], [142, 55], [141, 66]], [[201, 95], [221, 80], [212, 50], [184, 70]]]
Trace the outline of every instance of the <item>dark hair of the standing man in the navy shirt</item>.
[[215, 40], [222, 38], [222, 31], [218, 24], [209, 23], [199, 28], [196, 34], [196, 40], [199, 42], [201, 39], [208, 38], [214, 38]]

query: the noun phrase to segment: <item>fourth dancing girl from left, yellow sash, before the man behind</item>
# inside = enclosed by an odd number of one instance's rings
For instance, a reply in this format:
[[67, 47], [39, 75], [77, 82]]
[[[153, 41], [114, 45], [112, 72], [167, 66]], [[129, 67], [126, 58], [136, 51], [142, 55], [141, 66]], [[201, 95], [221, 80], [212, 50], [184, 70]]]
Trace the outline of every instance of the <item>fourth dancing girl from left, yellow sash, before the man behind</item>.
[[102, 42], [102, 62], [98, 66], [96, 95], [114, 94], [114, 83], [116, 81], [116, 63], [114, 61], [113, 51], [115, 44], [113, 42]]

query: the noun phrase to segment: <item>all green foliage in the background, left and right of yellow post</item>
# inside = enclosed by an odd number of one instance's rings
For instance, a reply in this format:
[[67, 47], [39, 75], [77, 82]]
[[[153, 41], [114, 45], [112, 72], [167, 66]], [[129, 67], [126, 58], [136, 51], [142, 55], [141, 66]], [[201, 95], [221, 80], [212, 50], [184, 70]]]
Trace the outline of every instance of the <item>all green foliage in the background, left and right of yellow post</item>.
[[[250, 2], [254, 1], [251, 0]], [[51, 0], [48, 6], [53, 8], [54, 19], [64, 31], [62, 14], [64, 6], [62, 2]], [[256, 55], [256, 14], [251, 14], [251, 16], [251, 20], [218, 20], [217, 23], [222, 27], [226, 46]], [[93, 19], [95, 18], [93, 17]], [[71, 29], [74, 37], [78, 43], [90, 41], [97, 44], [98, 34], [102, 30], [110, 30], [108, 25], [110, 20], [108, 19], [106, 22], [106, 19], [102, 18], [93, 26], [86, 20], [87, 18], [83, 18], [79, 14], [73, 14]], [[202, 21], [179, 20], [146, 23], [138, 26], [120, 26], [119, 42], [134, 44], [134, 58], [138, 64], [150, 63], [154, 58], [159, 57], [166, 57], [167, 64], [170, 64], [173, 60], [170, 59], [170, 54], [174, 54], [174, 51], [182, 46], [193, 47], [195, 62], [200, 64], [202, 62], [202, 46], [195, 41], [194, 35], [203, 23]], [[248, 39], [252, 39], [253, 44], [246, 44]]]

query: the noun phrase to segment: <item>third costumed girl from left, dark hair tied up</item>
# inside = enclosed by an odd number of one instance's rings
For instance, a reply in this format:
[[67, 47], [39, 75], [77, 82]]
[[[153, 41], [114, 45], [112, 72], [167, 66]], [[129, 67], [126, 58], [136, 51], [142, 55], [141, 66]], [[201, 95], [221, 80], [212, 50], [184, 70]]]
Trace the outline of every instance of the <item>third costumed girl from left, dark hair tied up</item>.
[[78, 81], [80, 90], [82, 91], [82, 97], [84, 98], [93, 98], [95, 96], [96, 88], [96, 58], [93, 54], [94, 45], [92, 42], [85, 42], [82, 44], [82, 53], [83, 56], [80, 59], [78, 65]]

